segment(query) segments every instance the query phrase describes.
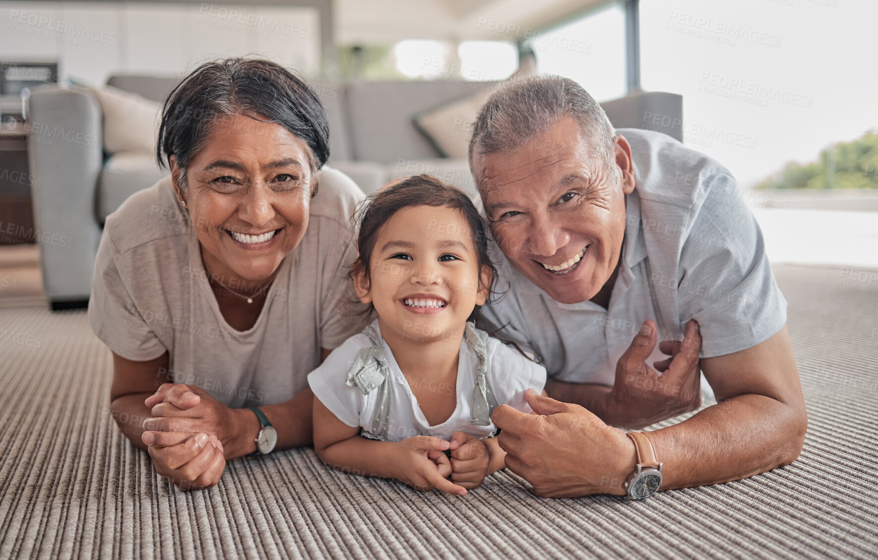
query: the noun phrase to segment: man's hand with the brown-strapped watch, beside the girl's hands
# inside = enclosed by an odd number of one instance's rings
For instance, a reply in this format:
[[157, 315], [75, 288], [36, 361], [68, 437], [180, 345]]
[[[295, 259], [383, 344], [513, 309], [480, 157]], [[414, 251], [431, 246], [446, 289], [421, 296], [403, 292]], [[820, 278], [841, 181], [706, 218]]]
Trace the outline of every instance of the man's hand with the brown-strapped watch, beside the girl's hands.
[[498, 406], [493, 423], [502, 430], [506, 466], [543, 498], [589, 494], [623, 495], [623, 482], [637, 463], [634, 443], [579, 405], [528, 390], [536, 414]]

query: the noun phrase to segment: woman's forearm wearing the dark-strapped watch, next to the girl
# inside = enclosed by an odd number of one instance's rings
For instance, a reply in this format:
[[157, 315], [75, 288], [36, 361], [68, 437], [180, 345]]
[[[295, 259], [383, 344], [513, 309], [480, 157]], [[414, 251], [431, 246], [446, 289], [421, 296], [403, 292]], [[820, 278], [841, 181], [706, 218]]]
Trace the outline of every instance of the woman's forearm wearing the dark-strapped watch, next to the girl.
[[[275, 449], [311, 445], [313, 401], [314, 394], [310, 388], [306, 387], [283, 403], [259, 407], [271, 422], [271, 426], [277, 430]], [[238, 437], [235, 438], [233, 445], [227, 446], [227, 459], [253, 453], [256, 450], [256, 437], [259, 435], [259, 430], [262, 429], [262, 425], [253, 411], [239, 408], [235, 409], [234, 412], [238, 422], [238, 428], [235, 430]], [[223, 444], [226, 445], [226, 442]]]

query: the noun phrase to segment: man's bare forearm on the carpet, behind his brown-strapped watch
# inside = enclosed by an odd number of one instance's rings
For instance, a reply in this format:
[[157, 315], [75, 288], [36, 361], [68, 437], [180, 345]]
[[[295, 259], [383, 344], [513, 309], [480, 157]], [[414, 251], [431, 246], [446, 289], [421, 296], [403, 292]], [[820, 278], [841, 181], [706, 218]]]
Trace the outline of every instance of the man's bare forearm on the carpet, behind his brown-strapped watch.
[[745, 394], [649, 432], [649, 437], [664, 463], [661, 489], [673, 490], [722, 484], [788, 465], [798, 458], [806, 429], [803, 410]]

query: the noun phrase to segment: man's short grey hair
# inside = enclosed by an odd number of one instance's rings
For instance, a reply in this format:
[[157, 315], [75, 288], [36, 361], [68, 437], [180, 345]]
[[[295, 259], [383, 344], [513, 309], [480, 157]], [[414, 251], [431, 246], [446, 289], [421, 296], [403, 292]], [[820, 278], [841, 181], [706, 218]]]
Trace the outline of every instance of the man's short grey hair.
[[607, 113], [579, 83], [557, 75], [511, 80], [488, 98], [472, 127], [470, 168], [473, 154], [515, 152], [568, 117], [579, 123], [591, 156], [613, 173], [615, 130]]

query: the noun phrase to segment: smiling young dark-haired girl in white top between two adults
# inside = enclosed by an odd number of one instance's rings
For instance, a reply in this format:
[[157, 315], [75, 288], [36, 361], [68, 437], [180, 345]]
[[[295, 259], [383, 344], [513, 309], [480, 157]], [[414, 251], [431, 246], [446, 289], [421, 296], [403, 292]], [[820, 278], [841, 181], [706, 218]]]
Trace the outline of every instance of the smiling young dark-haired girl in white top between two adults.
[[408, 177], [361, 216], [351, 276], [378, 319], [308, 376], [314, 449], [342, 470], [464, 495], [504, 467], [493, 409], [529, 412], [524, 392], [543, 391], [546, 372], [468, 322], [495, 269], [463, 191]]

